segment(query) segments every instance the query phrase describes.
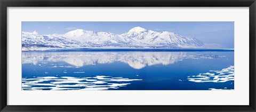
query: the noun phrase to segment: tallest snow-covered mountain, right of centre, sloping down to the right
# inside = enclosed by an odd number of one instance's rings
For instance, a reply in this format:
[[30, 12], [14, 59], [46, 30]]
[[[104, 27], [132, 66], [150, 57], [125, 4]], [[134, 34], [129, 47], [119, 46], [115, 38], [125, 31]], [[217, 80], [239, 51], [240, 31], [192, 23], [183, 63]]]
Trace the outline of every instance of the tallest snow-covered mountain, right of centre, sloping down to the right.
[[152, 30], [146, 30], [141, 27], [134, 27], [122, 36], [134, 39], [141, 43], [147, 43], [151, 46], [162, 47], [203, 47], [204, 44], [196, 38], [186, 38], [175, 33], [162, 31], [158, 33]]

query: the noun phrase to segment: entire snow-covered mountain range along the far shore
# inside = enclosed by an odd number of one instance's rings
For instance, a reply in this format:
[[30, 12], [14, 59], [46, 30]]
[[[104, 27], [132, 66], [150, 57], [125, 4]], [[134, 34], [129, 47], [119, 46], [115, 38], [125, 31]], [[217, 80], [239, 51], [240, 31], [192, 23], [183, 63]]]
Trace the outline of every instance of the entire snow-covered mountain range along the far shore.
[[76, 29], [66, 34], [41, 35], [22, 31], [22, 49], [35, 48], [202, 48], [196, 38], [187, 38], [169, 31], [152, 31], [134, 27], [124, 34]]

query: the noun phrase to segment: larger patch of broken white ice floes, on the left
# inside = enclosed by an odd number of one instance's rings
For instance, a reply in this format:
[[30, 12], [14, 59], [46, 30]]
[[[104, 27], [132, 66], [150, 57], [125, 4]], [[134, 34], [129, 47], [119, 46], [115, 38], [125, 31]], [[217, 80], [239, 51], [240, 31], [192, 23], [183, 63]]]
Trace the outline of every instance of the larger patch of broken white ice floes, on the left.
[[22, 78], [22, 90], [113, 90], [141, 80], [111, 76], [26, 77]]

